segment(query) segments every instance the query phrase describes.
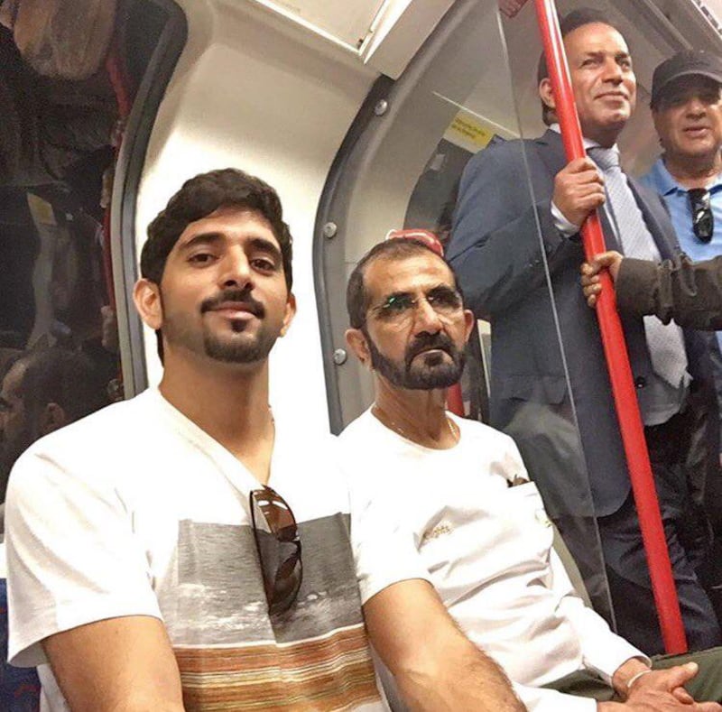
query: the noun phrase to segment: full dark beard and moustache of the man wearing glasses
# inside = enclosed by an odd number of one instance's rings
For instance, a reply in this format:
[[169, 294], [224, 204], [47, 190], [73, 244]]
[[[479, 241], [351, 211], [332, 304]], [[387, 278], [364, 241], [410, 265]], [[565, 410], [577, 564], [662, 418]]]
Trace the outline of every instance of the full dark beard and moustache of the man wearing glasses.
[[[366, 334], [366, 343], [375, 371], [399, 388], [411, 391], [431, 391], [434, 388], [449, 388], [457, 384], [464, 370], [464, 352], [459, 351], [453, 341], [442, 333], [421, 334], [406, 349], [403, 364], [392, 361], [382, 354], [373, 340]], [[414, 357], [429, 348], [440, 348], [451, 356], [451, 363], [437, 355]], [[423, 363], [418, 365], [419, 361]]]

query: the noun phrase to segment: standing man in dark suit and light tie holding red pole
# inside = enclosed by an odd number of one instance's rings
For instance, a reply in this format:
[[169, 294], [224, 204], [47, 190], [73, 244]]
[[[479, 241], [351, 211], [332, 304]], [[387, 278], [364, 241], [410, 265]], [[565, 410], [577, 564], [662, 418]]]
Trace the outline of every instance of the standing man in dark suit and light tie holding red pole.
[[[624, 38], [594, 10], [567, 15], [561, 30], [588, 157], [565, 159], [542, 62], [550, 130], [468, 163], [448, 256], [477, 317], [492, 324], [492, 424], [517, 440], [597, 607], [609, 613], [590, 555], [598, 529], [618, 630], [662, 652], [602, 341], [579, 289], [579, 227], [600, 208], [609, 248], [660, 259], [679, 247], [660, 199], [618, 166], [616, 139], [636, 96]], [[698, 574], [704, 481], [717, 465], [708, 356], [674, 325], [625, 319], [624, 328], [688, 640], [710, 647], [720, 630]]]

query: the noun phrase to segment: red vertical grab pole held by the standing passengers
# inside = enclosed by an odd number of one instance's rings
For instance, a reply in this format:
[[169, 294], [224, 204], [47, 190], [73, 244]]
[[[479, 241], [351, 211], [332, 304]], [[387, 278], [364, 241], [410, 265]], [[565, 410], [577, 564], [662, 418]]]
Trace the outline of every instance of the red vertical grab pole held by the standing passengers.
[[[585, 151], [556, 7], [553, 0], [534, 0], [534, 2], [564, 150], [567, 159], [572, 161], [583, 157]], [[587, 259], [606, 250], [597, 212], [591, 214], [582, 226], [582, 239]], [[687, 639], [680, 614], [680, 603], [671, 572], [670, 555], [662, 527], [652, 466], [644, 440], [642, 418], [634, 391], [625, 336], [616, 311], [614, 286], [608, 273], [603, 273], [601, 279], [603, 289], [597, 300], [597, 319], [604, 343], [606, 365], [612, 384], [619, 428], [622, 432], [664, 647], [668, 653], [686, 652]]]

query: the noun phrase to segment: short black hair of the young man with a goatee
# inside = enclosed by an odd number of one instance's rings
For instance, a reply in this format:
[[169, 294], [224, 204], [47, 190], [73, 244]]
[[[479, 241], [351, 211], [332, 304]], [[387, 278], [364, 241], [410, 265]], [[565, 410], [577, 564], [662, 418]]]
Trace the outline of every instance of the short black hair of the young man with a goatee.
[[281, 247], [283, 274], [286, 287], [291, 291], [293, 240], [288, 225], [283, 222], [281, 199], [264, 180], [236, 168], [200, 173], [183, 183], [148, 226], [148, 239], [141, 253], [141, 275], [160, 284], [168, 255], [183, 230], [218, 208], [253, 210], [268, 220]]

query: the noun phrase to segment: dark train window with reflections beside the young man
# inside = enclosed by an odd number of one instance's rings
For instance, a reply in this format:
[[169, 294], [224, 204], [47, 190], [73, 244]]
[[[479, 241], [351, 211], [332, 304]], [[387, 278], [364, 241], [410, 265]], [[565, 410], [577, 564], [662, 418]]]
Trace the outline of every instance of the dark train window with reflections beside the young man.
[[139, 384], [129, 196], [184, 42], [168, 0], [0, 2], [0, 502], [34, 439]]

